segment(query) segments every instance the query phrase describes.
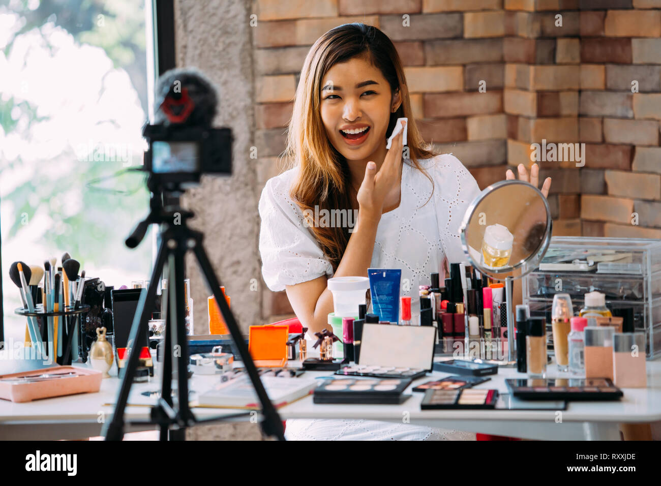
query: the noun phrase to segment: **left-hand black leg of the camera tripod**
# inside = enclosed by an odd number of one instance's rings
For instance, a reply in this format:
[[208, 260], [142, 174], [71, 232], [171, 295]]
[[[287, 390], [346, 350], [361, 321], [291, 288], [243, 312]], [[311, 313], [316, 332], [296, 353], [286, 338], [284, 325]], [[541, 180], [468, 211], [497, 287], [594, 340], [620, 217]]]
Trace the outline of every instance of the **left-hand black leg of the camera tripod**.
[[151, 309], [154, 308], [154, 302], [156, 300], [157, 285], [155, 282], [158, 282], [161, 274], [163, 274], [163, 264], [165, 264], [166, 255], [165, 245], [161, 242], [156, 262], [154, 263], [154, 269], [151, 272], [152, 285], [149, 286], [146, 294], [141, 294], [137, 304], [136, 314], [134, 315], [133, 325], [131, 326], [131, 334], [128, 338], [130, 349], [128, 350], [124, 378], [122, 378], [122, 384], [117, 393], [112, 420], [106, 422], [103, 430], [106, 440], [122, 440], [124, 437], [124, 409], [126, 409], [126, 401], [131, 391], [131, 385], [136, 374], [138, 358], [141, 352], [140, 346], [137, 343], [142, 343], [147, 338], [147, 321], [149, 321]]

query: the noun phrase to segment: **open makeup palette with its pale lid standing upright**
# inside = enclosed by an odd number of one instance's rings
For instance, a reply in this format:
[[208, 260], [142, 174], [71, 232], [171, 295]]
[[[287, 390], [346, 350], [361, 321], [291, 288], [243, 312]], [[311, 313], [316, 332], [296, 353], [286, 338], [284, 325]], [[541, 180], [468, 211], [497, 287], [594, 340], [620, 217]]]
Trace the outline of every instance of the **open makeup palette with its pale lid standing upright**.
[[432, 370], [435, 341], [435, 327], [364, 324], [360, 364], [335, 374], [414, 380]]

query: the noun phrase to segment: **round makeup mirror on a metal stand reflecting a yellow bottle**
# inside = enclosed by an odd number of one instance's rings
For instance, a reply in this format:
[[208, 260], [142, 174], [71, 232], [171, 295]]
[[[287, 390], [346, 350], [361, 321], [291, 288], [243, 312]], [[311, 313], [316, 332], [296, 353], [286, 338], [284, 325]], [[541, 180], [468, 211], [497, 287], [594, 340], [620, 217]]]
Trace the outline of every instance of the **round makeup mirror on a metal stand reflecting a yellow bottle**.
[[[507, 302], [512, 282], [539, 265], [551, 242], [551, 210], [541, 191], [524, 181], [500, 181], [473, 200], [461, 223], [461, 245], [479, 272], [505, 280]], [[508, 364], [514, 352], [513, 309], [507, 309]]]

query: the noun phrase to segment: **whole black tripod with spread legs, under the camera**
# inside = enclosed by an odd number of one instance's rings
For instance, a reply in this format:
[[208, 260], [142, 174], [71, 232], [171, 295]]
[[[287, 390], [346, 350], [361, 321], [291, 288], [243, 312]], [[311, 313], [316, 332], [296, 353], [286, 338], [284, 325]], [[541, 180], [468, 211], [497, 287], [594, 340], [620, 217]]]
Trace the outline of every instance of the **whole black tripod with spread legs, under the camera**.
[[[126, 245], [131, 248], [136, 247], [152, 223], [161, 225], [161, 244], [159, 245], [156, 262], [151, 274], [151, 285], [147, 289], [146, 294], [142, 294], [137, 305], [136, 315], [128, 340], [129, 350], [126, 372], [117, 395], [112, 420], [108, 421], [104, 426], [103, 435], [106, 440], [122, 440], [124, 436], [124, 409], [126, 408], [128, 395], [136, 374], [138, 356], [140, 354], [139, 346], [132, 346], [132, 343], [143, 343], [147, 339], [147, 321], [150, 319], [151, 309], [154, 308], [157, 282], [159, 282], [163, 274], [163, 266], [166, 259], [168, 263], [168, 295], [163, 295], [163, 298], [167, 298], [167, 311], [165, 313], [166, 333], [165, 348], [163, 350], [161, 397], [159, 398], [158, 405], [155, 405], [151, 409], [151, 419], [146, 421], [132, 421], [132, 423], [159, 425], [161, 440], [168, 440], [169, 432], [171, 433], [170, 438], [183, 439], [185, 428], [188, 426], [196, 423], [223, 421], [246, 415], [245, 413], [241, 413], [232, 417], [213, 417], [211, 419], [200, 420], [196, 419], [188, 407], [188, 343], [186, 341], [185, 311], [183, 305], [184, 255], [186, 255], [186, 251], [192, 250], [197, 257], [206, 282], [212, 289], [215, 302], [217, 302], [220, 308], [223, 319], [225, 319], [236, 349], [243, 360], [245, 369], [262, 405], [262, 430], [266, 436], [275, 436], [279, 440], [284, 440], [284, 430], [280, 416], [268, 398], [266, 390], [264, 390], [264, 386], [257, 374], [257, 368], [254, 366], [245, 341], [243, 341], [234, 315], [221, 293], [220, 282], [215, 276], [204, 247], [202, 247], [204, 236], [200, 231], [194, 231], [187, 225], [188, 218], [192, 218], [194, 216], [193, 213], [182, 210], [178, 206], [164, 210], [161, 204], [161, 191], [157, 187], [157, 182], [155, 182], [153, 176], [149, 177], [147, 185], [153, 193], [150, 202], [151, 212], [145, 220], [137, 225], [132, 235], [126, 239]], [[176, 386], [174, 390], [173, 383]]]

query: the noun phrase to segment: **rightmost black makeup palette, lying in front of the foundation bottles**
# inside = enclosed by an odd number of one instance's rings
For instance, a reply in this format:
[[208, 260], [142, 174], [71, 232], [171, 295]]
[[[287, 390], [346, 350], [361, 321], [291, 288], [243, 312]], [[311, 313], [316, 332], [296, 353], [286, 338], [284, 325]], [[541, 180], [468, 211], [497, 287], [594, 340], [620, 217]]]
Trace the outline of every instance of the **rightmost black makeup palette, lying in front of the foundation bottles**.
[[525, 400], [619, 400], [624, 395], [608, 378], [528, 378], [505, 383], [512, 395]]

